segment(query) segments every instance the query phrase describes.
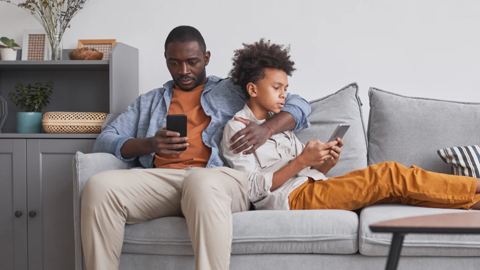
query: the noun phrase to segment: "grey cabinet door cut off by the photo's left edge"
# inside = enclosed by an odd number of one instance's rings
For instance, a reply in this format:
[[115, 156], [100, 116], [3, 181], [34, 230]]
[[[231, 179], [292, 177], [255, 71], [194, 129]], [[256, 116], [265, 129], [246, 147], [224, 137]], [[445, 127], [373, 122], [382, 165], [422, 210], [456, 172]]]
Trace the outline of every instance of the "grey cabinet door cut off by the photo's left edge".
[[[28, 269], [25, 159], [25, 139], [0, 139], [0, 265], [2, 269]], [[17, 212], [16, 215], [15, 212]]]

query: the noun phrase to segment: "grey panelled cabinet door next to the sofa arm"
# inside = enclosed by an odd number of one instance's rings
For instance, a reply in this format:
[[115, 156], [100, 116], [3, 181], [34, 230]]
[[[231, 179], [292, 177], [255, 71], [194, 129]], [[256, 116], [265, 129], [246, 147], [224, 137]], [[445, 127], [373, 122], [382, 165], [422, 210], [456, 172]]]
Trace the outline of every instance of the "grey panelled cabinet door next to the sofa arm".
[[[87, 139], [27, 139], [28, 269], [74, 270], [73, 172]], [[32, 213], [33, 215], [33, 213]]]

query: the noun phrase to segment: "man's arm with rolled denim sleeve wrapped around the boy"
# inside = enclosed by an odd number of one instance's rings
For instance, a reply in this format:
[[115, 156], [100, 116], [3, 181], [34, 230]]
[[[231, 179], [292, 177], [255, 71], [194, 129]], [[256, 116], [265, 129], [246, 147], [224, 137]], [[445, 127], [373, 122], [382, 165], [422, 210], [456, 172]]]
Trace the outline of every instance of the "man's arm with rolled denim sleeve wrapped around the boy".
[[[309, 127], [310, 123], [307, 117], [311, 112], [312, 108], [307, 100], [299, 95], [288, 94], [283, 109], [261, 125], [236, 117], [235, 120], [244, 123], [246, 127], [233, 135], [230, 143], [235, 142], [242, 135], [245, 136], [231, 145], [230, 150], [234, 150], [235, 154], [244, 150], [244, 154], [252, 154], [258, 147], [264, 145], [273, 134], [291, 129], [297, 131]], [[270, 129], [272, 130], [270, 131]], [[251, 146], [252, 148], [248, 149]]]

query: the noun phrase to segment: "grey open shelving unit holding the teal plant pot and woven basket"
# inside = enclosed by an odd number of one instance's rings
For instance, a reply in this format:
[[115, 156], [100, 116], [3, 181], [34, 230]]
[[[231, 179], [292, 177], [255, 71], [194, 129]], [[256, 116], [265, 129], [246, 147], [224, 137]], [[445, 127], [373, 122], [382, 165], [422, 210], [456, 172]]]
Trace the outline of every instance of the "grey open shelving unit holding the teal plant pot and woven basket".
[[[64, 59], [68, 51], [64, 50]], [[138, 97], [138, 49], [117, 42], [110, 60], [0, 61], [0, 96], [7, 100], [8, 116], [0, 138], [16, 133], [16, 113], [8, 93], [17, 83], [52, 81], [50, 104], [42, 112], [87, 111], [120, 114]]]

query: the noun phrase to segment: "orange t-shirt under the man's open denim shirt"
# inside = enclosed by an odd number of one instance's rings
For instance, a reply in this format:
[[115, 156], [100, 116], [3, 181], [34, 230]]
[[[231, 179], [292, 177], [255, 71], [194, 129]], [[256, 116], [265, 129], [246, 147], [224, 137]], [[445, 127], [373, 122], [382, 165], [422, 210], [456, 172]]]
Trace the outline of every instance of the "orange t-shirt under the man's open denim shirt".
[[204, 86], [197, 86], [191, 91], [183, 91], [178, 86], [173, 88], [172, 100], [168, 114], [187, 115], [187, 137], [189, 147], [180, 155], [155, 154], [154, 164], [162, 169], [185, 169], [189, 166], [205, 168], [212, 149], [204, 144], [202, 132], [212, 118], [205, 114], [200, 103]]

